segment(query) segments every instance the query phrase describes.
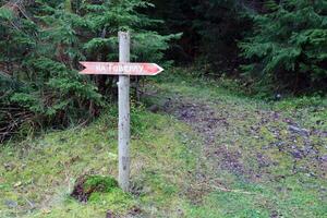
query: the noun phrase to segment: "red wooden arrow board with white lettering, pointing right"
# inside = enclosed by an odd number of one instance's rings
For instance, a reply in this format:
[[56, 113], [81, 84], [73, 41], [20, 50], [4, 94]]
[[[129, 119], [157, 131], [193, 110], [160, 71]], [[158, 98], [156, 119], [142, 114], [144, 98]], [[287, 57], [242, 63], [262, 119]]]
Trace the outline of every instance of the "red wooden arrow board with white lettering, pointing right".
[[156, 63], [80, 62], [85, 66], [80, 74], [157, 75], [164, 69]]

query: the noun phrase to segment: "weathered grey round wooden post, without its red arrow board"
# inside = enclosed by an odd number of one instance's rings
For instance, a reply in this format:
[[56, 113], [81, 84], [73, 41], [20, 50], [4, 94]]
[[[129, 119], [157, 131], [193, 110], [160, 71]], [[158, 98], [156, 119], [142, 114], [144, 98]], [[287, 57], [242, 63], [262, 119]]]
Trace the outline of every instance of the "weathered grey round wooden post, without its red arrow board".
[[[119, 61], [130, 62], [130, 33], [119, 32]], [[120, 75], [118, 83], [119, 98], [119, 185], [129, 192], [130, 185], [130, 76]]]

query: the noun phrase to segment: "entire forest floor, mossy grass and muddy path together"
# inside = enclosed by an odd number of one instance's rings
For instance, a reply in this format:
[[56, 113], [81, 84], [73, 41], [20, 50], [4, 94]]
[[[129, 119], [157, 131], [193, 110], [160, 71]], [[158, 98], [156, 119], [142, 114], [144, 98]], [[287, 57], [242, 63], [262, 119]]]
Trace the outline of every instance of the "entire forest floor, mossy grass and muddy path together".
[[0, 217], [327, 217], [326, 99], [266, 102], [164, 73], [132, 109], [132, 187], [70, 196], [117, 177], [117, 108], [88, 126], [0, 149]]

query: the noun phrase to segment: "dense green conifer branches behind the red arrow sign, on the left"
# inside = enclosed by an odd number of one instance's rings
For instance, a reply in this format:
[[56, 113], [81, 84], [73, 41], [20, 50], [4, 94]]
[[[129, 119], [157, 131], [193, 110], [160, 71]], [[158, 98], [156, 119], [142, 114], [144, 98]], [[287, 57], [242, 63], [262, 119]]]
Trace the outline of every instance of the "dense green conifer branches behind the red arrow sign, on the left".
[[161, 21], [140, 12], [148, 7], [142, 0], [1, 1], [0, 129], [15, 132], [27, 121], [60, 128], [98, 114], [114, 78], [80, 76], [78, 61], [118, 60], [121, 29], [132, 33], [133, 61], [161, 60], [177, 36], [152, 31]]

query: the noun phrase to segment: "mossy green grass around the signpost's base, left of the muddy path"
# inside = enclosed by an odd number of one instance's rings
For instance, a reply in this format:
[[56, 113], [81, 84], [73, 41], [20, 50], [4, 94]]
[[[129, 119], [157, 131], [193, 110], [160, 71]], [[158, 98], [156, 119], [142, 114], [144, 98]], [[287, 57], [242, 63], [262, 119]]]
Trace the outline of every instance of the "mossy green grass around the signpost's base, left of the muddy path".
[[[190, 129], [173, 118], [133, 109], [132, 184], [137, 195], [116, 189], [90, 196], [87, 204], [70, 197], [83, 174], [117, 178], [116, 109], [87, 128], [11, 142], [0, 153], [0, 217], [124, 216], [134, 207], [144, 213], [171, 211], [183, 202], [180, 184], [194, 165], [192, 149], [181, 143]], [[137, 128], [135, 130], [135, 128]]]

